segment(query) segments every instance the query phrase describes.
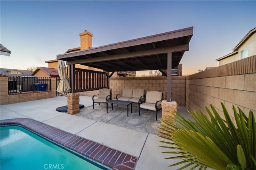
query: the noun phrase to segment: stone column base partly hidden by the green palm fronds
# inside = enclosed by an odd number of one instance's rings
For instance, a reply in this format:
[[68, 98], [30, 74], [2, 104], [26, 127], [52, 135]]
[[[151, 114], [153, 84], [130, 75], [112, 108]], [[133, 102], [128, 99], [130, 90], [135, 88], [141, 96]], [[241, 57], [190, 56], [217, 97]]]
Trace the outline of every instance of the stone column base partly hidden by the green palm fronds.
[[[173, 115], [170, 112], [177, 111], [177, 109], [178, 109], [178, 104], [176, 103], [176, 101], [167, 102], [166, 100], [163, 100], [161, 104], [162, 104], [162, 120], [167, 120], [167, 118], [166, 118], [167, 115], [170, 115], [171, 117], [173, 117]], [[166, 126], [166, 124], [163, 122], [161, 123], [161, 125]], [[168, 134], [168, 132], [166, 132], [162, 129], [161, 129], [161, 132]]]

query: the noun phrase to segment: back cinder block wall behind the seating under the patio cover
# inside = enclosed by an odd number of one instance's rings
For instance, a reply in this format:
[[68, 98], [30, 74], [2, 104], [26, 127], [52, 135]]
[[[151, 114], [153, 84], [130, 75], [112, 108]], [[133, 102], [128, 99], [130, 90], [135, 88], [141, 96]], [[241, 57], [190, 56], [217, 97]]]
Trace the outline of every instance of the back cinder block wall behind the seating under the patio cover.
[[[185, 106], [186, 77], [172, 76], [172, 100], [178, 105]], [[110, 89], [112, 89], [112, 99], [122, 93], [122, 89], [144, 89], [147, 91], [161, 91], [166, 99], [167, 77], [113, 77], [110, 78]], [[98, 90], [80, 92], [80, 95], [93, 96], [98, 94]]]

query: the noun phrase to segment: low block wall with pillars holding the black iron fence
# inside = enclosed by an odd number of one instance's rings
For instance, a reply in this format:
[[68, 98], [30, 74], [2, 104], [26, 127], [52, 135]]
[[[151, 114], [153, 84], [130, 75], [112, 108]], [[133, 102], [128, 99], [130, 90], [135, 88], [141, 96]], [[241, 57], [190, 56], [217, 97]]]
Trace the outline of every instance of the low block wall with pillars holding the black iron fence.
[[34, 91], [8, 94], [8, 77], [0, 77], [0, 105], [56, 97], [56, 78], [51, 78], [51, 91]]

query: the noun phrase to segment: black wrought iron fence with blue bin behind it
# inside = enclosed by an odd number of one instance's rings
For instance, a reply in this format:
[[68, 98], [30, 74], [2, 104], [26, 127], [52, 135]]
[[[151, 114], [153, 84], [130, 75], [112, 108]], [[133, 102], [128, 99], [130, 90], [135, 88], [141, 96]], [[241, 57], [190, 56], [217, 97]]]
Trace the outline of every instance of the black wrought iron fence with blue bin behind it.
[[51, 79], [35, 76], [8, 77], [8, 93], [52, 90]]

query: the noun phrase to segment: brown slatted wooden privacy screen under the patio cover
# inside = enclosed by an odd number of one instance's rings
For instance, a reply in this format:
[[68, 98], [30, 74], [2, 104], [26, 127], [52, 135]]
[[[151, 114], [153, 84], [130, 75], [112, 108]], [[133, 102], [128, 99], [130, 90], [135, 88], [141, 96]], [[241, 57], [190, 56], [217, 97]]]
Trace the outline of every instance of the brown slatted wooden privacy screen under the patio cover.
[[75, 92], [109, 88], [108, 73], [75, 68], [74, 87]]

